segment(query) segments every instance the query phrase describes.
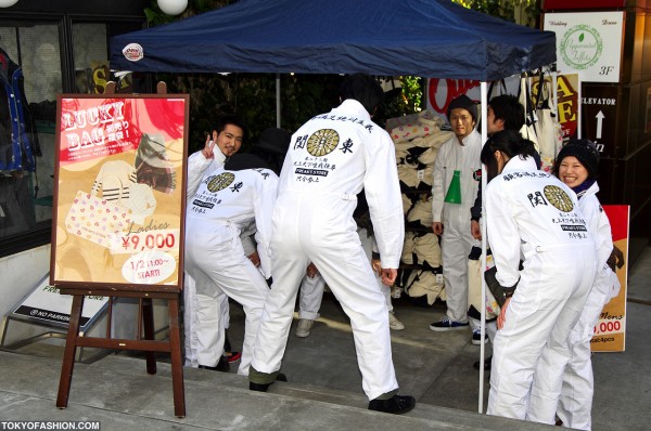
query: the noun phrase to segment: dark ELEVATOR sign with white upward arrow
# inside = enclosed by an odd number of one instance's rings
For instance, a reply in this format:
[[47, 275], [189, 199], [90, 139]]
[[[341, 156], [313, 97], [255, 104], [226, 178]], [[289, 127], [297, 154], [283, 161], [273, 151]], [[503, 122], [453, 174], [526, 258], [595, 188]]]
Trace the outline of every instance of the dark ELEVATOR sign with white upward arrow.
[[583, 88], [583, 136], [595, 142], [601, 157], [615, 157], [617, 102], [616, 87]]

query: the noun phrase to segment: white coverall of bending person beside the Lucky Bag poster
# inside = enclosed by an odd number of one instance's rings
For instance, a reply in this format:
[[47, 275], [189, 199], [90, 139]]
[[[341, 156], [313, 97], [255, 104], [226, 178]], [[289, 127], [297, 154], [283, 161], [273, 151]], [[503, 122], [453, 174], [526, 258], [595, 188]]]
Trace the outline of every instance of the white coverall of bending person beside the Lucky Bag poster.
[[[224, 351], [220, 325], [224, 295], [246, 314], [242, 362], [247, 376], [253, 343], [269, 291], [269, 239], [278, 177], [268, 169], [217, 170], [192, 198], [186, 221], [186, 271], [196, 282], [196, 337], [200, 365], [216, 366]], [[254, 223], [260, 270], [244, 253], [240, 233]], [[260, 273], [261, 271], [261, 273]], [[264, 274], [264, 275], [263, 275]]]

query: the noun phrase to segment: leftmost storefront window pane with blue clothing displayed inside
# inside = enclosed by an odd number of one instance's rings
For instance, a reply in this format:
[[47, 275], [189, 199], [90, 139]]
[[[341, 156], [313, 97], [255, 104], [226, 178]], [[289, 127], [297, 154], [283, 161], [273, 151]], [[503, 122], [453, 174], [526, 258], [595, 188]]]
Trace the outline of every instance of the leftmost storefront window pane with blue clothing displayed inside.
[[62, 91], [56, 24], [0, 22], [0, 239], [52, 219], [56, 93]]

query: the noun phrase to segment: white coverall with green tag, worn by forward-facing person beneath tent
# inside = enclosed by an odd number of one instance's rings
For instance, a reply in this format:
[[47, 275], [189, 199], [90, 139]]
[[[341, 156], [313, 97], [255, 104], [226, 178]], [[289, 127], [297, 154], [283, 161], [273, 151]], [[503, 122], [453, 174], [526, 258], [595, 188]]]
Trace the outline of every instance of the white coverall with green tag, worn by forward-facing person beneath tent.
[[[441, 253], [447, 316], [452, 322], [468, 322], [468, 256], [482, 243], [470, 233], [470, 208], [474, 205], [480, 184], [482, 135], [474, 130], [459, 144], [457, 136], [446, 141], [434, 161], [432, 214], [443, 223]], [[445, 203], [452, 175], [460, 171], [461, 204]]]

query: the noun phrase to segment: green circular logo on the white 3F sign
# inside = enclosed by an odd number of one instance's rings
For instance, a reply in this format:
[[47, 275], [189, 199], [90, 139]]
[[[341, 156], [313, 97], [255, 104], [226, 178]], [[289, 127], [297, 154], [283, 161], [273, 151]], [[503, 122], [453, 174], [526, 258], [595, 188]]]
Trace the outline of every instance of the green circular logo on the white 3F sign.
[[561, 40], [563, 62], [578, 70], [585, 70], [597, 63], [603, 51], [599, 31], [587, 24], [572, 27]]

